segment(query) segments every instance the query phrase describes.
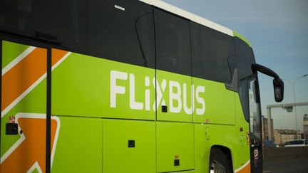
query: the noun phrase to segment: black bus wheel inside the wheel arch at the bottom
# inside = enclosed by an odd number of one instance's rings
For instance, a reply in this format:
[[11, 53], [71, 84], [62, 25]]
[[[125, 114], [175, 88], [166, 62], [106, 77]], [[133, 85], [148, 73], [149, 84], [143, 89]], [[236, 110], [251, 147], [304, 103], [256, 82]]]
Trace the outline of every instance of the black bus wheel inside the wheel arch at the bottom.
[[218, 148], [212, 148], [210, 153], [210, 173], [231, 173], [227, 156]]

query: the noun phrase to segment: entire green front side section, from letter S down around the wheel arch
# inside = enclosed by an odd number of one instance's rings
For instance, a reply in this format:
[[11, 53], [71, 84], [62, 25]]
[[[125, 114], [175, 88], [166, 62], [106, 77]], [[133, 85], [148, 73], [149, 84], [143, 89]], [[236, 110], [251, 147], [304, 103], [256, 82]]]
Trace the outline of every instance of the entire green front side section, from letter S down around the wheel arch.
[[243, 115], [238, 94], [225, 90], [222, 83], [196, 78], [193, 78], [193, 83], [205, 85], [205, 95], [200, 97], [205, 98], [206, 104], [205, 115], [193, 114], [195, 122], [202, 122], [195, 123], [195, 170], [208, 172], [210, 149], [217, 146], [230, 150], [230, 162], [235, 172], [250, 172], [249, 124]]

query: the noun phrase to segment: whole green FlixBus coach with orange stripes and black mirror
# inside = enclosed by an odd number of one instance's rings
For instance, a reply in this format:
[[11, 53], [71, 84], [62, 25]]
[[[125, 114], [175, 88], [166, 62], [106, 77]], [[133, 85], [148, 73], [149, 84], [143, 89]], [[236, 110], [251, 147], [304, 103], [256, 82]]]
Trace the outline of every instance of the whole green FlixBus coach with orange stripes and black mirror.
[[0, 1], [1, 173], [262, 172], [239, 33], [163, 1]]

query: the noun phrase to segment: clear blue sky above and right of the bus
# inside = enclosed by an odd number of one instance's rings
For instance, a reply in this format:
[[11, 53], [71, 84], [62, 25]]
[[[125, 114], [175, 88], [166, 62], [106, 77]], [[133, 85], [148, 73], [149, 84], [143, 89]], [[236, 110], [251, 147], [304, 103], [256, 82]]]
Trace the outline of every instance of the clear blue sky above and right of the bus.
[[[257, 63], [265, 65], [288, 80], [308, 73], [308, 1], [205, 1], [164, 0], [245, 36], [254, 49]], [[266, 105], [274, 102], [272, 78], [260, 74], [262, 114], [267, 116]], [[284, 82], [284, 101], [293, 103], [292, 85]], [[308, 76], [295, 84], [296, 101], [308, 102]], [[302, 118], [308, 106], [297, 108], [297, 122], [302, 130]], [[272, 110], [274, 128], [295, 129], [294, 112], [280, 108]]]

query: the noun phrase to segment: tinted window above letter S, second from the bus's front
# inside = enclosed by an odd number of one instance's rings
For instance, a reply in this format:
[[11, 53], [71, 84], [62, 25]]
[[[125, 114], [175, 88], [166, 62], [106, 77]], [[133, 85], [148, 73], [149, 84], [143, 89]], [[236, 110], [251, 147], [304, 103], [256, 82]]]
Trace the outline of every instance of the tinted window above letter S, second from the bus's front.
[[231, 36], [191, 23], [193, 76], [230, 83], [235, 68]]

